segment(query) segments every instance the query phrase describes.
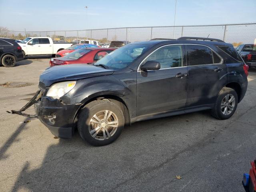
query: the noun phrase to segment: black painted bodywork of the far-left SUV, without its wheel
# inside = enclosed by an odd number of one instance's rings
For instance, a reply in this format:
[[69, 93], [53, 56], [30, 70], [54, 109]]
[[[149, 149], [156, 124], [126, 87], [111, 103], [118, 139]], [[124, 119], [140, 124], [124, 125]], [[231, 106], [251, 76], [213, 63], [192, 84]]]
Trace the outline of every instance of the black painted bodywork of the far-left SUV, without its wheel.
[[0, 38], [0, 40], [4, 40], [12, 45], [1, 45], [0, 44], [0, 63], [2, 62], [2, 58], [5, 55], [12, 55], [15, 57], [16, 61], [20, 61], [24, 59], [24, 55], [22, 50], [18, 49], [20, 47], [18, 43], [14, 39], [8, 38]]

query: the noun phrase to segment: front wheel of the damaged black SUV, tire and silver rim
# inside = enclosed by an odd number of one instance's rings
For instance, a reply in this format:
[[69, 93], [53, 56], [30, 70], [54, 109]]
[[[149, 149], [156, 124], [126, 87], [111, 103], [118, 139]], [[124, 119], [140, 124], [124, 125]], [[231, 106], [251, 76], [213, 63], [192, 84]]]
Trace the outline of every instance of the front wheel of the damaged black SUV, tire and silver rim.
[[[94, 118], [95, 116], [98, 120]], [[78, 132], [81, 138], [94, 146], [104, 146], [114, 142], [123, 128], [124, 113], [109, 100], [92, 101], [84, 106], [78, 115]]]

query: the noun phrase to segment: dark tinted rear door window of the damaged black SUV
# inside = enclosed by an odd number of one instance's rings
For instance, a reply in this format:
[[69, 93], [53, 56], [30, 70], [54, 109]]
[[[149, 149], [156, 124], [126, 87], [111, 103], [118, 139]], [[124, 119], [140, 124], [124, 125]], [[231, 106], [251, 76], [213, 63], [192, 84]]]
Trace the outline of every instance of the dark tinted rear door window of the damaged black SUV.
[[186, 45], [189, 65], [204, 65], [213, 63], [212, 50], [201, 45]]

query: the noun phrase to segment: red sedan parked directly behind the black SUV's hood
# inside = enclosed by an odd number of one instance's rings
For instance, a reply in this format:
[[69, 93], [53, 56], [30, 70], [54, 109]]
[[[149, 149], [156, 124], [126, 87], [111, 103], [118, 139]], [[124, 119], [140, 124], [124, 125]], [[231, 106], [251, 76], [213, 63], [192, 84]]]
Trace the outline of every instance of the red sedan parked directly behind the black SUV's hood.
[[113, 48], [90, 47], [78, 49], [64, 57], [51, 58], [50, 66], [66, 64], [90, 64], [100, 60], [105, 55], [114, 51]]

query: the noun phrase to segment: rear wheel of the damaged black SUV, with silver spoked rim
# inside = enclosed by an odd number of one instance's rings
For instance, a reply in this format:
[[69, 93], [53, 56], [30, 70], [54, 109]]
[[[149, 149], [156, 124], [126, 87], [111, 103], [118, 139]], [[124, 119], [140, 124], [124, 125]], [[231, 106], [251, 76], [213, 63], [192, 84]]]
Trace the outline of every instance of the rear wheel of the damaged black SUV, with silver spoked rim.
[[212, 116], [220, 120], [228, 119], [236, 111], [237, 104], [238, 96], [236, 91], [232, 88], [224, 87], [218, 94], [212, 109]]

